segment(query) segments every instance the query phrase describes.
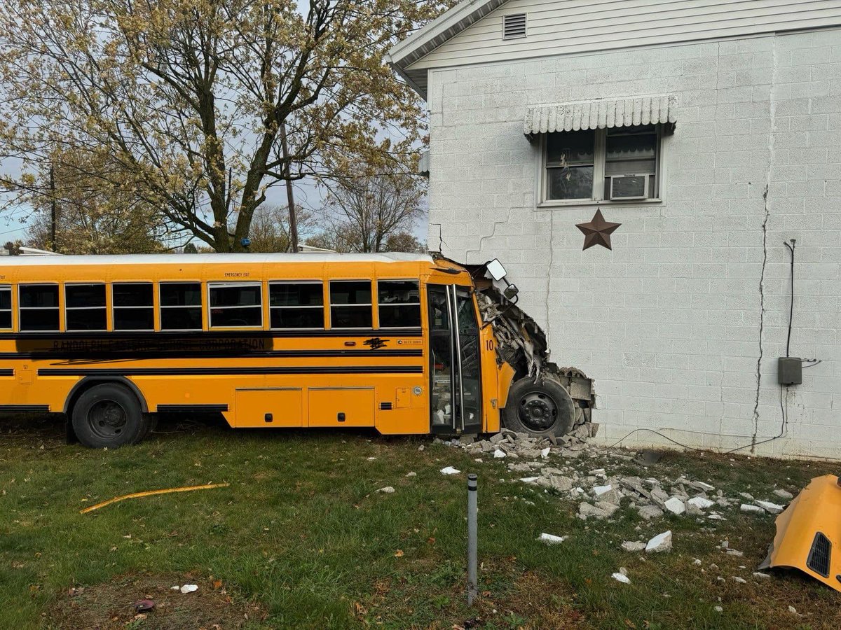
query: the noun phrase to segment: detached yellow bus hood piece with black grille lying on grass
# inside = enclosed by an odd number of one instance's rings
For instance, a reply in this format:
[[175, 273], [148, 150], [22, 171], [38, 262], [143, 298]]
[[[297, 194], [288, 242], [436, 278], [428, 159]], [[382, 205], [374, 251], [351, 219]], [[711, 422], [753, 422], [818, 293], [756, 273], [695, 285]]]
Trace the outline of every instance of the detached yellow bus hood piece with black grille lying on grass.
[[841, 591], [841, 487], [815, 477], [777, 517], [777, 533], [759, 569], [791, 567]]

